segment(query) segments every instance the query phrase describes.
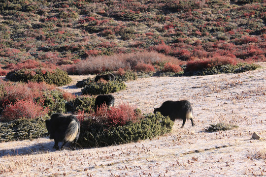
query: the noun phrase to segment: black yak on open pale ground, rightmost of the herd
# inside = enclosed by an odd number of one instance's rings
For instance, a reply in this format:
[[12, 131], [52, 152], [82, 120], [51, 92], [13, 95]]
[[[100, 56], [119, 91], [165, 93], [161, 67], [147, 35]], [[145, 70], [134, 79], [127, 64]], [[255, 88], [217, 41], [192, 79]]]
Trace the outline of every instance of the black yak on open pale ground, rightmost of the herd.
[[163, 116], [169, 116], [172, 121], [176, 119], [182, 119], [183, 124], [181, 128], [184, 127], [186, 119], [190, 119], [192, 126], [193, 122], [193, 110], [191, 104], [187, 100], [181, 101], [165, 101], [160, 108], [154, 108], [153, 113], [161, 112]]

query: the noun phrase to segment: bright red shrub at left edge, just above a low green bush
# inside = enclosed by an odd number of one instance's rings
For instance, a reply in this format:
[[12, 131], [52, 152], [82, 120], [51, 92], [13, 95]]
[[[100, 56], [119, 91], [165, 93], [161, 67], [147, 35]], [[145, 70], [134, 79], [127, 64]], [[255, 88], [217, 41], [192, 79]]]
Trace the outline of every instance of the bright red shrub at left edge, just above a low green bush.
[[43, 108], [32, 100], [19, 100], [2, 111], [5, 121], [18, 118], [38, 118], [48, 113], [48, 108]]

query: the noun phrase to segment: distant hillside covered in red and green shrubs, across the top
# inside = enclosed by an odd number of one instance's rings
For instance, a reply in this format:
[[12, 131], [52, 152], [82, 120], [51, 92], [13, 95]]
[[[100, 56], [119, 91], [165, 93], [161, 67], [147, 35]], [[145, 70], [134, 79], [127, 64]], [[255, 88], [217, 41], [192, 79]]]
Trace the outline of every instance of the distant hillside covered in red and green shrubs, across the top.
[[263, 61], [265, 23], [265, 0], [0, 0], [0, 63], [137, 51]]

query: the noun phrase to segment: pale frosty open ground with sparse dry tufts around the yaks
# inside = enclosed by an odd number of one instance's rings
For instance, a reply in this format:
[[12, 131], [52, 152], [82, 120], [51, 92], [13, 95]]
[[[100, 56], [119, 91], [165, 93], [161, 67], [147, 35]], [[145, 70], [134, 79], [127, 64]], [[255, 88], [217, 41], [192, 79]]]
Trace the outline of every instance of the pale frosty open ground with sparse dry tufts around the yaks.
[[[125, 145], [55, 151], [45, 138], [0, 143], [0, 177], [252, 177], [266, 176], [266, 63], [240, 74], [151, 77], [129, 81], [115, 104], [153, 112], [166, 100], [188, 99], [194, 122], [175, 121], [171, 133]], [[61, 87], [80, 94], [71, 76]], [[90, 76], [93, 77], [93, 76]], [[205, 132], [225, 122], [238, 128]], [[260, 140], [251, 136], [257, 132]]]

